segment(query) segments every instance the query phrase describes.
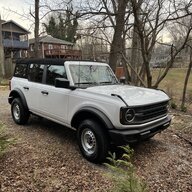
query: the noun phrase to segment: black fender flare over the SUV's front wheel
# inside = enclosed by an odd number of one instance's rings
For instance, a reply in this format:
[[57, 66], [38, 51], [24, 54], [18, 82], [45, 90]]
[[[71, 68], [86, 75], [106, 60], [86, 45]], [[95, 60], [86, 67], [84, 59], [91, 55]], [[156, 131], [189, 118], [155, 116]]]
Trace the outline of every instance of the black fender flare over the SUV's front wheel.
[[71, 120], [71, 126], [74, 127], [75, 121], [78, 119], [78, 116], [82, 116], [82, 114], [89, 114], [92, 117], [98, 118], [107, 129], [114, 129], [114, 126], [110, 119], [100, 110], [94, 108], [94, 107], [83, 107], [80, 110], [78, 110]]

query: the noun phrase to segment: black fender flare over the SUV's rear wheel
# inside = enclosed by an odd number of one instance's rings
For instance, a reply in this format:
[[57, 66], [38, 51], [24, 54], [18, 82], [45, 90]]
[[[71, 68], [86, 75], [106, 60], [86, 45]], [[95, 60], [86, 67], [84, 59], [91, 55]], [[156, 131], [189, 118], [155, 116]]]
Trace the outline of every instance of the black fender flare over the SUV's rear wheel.
[[28, 105], [27, 105], [27, 101], [26, 101], [26, 99], [25, 99], [25, 95], [23, 94], [23, 92], [22, 92], [20, 89], [16, 88], [16, 89], [14, 89], [14, 90], [12, 90], [12, 91], [10, 92], [9, 98], [8, 98], [9, 104], [12, 103], [12, 101], [14, 100], [14, 98], [21, 98], [21, 101], [22, 101], [24, 107], [25, 107], [26, 109], [28, 109]]

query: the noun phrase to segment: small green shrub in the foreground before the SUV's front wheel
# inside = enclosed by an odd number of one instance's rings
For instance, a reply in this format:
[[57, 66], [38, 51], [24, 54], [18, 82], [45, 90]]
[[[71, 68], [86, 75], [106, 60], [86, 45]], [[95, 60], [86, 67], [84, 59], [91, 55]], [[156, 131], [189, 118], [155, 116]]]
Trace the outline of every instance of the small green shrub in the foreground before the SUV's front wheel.
[[147, 192], [147, 186], [135, 173], [134, 165], [131, 162], [133, 149], [129, 146], [120, 147], [124, 153], [120, 159], [116, 159], [115, 153], [109, 153], [107, 159], [109, 163], [105, 165], [109, 168], [107, 176], [112, 180], [113, 192]]

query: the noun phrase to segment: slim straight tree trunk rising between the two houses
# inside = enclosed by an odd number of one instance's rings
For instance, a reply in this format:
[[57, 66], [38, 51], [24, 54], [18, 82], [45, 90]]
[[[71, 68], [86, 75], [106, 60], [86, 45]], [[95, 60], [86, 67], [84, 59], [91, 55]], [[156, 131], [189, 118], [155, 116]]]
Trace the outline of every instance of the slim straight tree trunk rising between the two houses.
[[35, 0], [35, 43], [34, 43], [34, 55], [39, 57], [39, 0]]

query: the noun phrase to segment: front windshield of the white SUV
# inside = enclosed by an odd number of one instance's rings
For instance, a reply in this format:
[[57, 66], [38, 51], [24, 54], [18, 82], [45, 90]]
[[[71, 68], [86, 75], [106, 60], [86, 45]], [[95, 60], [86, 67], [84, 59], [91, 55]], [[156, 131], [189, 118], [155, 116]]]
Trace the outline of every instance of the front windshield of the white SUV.
[[102, 65], [70, 65], [74, 85], [93, 86], [118, 83], [112, 70]]

